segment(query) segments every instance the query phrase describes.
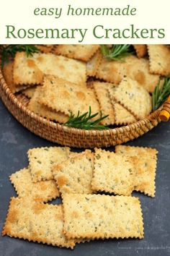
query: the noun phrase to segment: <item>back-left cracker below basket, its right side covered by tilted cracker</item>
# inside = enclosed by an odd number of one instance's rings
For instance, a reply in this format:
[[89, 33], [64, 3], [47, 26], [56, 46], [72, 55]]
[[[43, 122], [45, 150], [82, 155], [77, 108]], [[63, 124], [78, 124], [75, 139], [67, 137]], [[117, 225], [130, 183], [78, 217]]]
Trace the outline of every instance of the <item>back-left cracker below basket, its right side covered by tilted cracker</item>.
[[30, 172], [33, 182], [53, 179], [52, 166], [68, 158], [70, 148], [45, 147], [28, 150]]

